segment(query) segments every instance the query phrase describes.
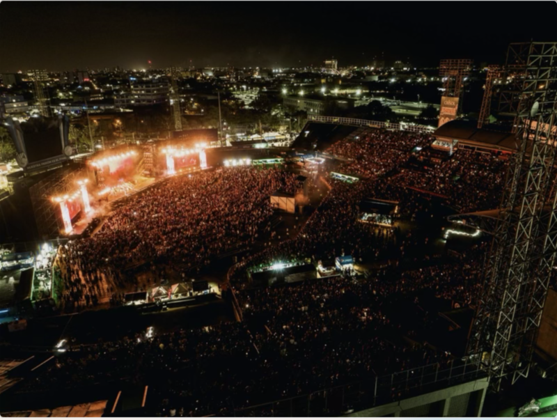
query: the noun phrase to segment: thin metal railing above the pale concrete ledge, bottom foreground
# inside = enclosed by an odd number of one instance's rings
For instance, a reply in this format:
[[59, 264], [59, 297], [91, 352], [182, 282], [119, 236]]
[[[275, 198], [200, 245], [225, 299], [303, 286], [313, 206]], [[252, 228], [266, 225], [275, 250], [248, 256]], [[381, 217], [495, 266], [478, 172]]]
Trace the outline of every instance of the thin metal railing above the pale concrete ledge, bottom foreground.
[[434, 391], [451, 385], [487, 378], [478, 357], [453, 359], [448, 364], [430, 364], [378, 376], [370, 380], [330, 387], [320, 391], [275, 400], [251, 407], [236, 408], [236, 417], [309, 417], [341, 415], [366, 410]]

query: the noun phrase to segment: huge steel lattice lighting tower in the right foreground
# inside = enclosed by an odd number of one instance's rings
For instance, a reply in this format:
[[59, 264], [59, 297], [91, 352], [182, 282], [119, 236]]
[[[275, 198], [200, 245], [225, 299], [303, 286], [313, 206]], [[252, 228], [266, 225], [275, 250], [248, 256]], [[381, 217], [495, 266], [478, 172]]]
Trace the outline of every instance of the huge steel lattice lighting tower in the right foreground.
[[515, 116], [517, 153], [469, 341], [469, 353], [483, 354], [493, 391], [503, 378], [528, 375], [557, 252], [557, 42], [511, 44], [505, 70], [513, 76], [501, 103]]

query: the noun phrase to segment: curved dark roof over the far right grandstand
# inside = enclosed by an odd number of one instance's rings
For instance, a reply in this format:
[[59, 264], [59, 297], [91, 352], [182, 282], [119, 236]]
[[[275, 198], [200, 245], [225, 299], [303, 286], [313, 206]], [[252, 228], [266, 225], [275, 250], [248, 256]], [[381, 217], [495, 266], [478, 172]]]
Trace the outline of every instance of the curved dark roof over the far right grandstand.
[[456, 139], [469, 146], [488, 148], [491, 150], [516, 150], [515, 134], [495, 130], [478, 129], [476, 122], [452, 120], [441, 125], [433, 135], [438, 139]]

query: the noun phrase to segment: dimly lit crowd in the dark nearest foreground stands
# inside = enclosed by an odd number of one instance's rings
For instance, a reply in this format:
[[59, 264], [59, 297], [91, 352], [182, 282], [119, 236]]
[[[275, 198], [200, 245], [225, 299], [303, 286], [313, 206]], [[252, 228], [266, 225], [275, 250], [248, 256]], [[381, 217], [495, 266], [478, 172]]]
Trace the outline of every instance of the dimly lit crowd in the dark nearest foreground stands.
[[[368, 281], [332, 278], [246, 290], [244, 322], [146, 338], [86, 345], [65, 352], [25, 391], [112, 381], [148, 383], [152, 414], [233, 415], [269, 400], [311, 394], [452, 357], [393, 322], [389, 297], [432, 288], [456, 290], [460, 267], [440, 267]], [[464, 296], [464, 294], [462, 294]], [[461, 296], [461, 297], [462, 297]]]

